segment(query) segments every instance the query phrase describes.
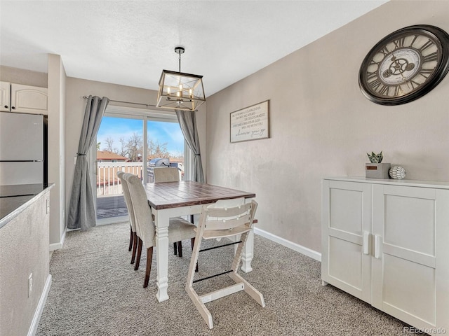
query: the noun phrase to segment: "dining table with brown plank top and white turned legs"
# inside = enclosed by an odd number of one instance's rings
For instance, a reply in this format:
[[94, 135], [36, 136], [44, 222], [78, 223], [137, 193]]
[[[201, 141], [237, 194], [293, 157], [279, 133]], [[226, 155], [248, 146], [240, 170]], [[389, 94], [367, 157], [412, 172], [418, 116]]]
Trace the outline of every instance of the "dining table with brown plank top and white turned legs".
[[[156, 297], [159, 302], [162, 302], [168, 300], [168, 230], [170, 230], [168, 225], [170, 218], [201, 214], [203, 206], [213, 204], [217, 200], [243, 197], [245, 202], [251, 202], [255, 193], [194, 181], [144, 183], [144, 188], [156, 227]], [[253, 270], [251, 268], [253, 249], [254, 234], [251, 231], [241, 258], [243, 272]]]

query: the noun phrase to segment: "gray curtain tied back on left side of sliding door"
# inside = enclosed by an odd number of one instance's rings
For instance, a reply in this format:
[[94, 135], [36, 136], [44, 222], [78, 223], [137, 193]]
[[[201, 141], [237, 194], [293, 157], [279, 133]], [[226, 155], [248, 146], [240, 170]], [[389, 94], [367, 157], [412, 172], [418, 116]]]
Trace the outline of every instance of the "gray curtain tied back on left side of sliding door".
[[107, 97], [88, 97], [81, 136], [79, 137], [72, 195], [70, 195], [69, 214], [67, 216], [67, 228], [69, 229], [88, 230], [97, 225], [93, 202], [95, 190], [92, 188], [86, 155], [97, 137], [98, 128], [108, 103]]

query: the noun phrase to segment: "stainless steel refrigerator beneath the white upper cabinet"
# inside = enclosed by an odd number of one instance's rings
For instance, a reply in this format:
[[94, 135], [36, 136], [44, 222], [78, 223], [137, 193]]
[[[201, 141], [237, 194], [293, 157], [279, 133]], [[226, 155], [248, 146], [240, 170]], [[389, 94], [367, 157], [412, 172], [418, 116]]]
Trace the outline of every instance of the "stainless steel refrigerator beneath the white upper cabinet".
[[47, 117], [0, 113], [0, 186], [47, 185]]

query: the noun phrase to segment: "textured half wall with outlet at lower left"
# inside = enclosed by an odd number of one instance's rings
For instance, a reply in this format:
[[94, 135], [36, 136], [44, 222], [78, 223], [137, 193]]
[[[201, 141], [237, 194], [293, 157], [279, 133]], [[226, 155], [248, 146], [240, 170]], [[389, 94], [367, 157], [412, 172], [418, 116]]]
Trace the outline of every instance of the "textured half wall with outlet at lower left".
[[[49, 190], [0, 229], [0, 335], [27, 335], [49, 276]], [[33, 289], [28, 297], [28, 276]]]

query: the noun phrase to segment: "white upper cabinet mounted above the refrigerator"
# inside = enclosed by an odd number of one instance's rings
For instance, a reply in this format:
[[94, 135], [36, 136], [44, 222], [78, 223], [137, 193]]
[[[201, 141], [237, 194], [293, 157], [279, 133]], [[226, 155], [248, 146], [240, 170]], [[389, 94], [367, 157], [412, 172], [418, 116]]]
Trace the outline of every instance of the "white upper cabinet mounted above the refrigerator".
[[0, 111], [48, 114], [48, 89], [0, 82]]

